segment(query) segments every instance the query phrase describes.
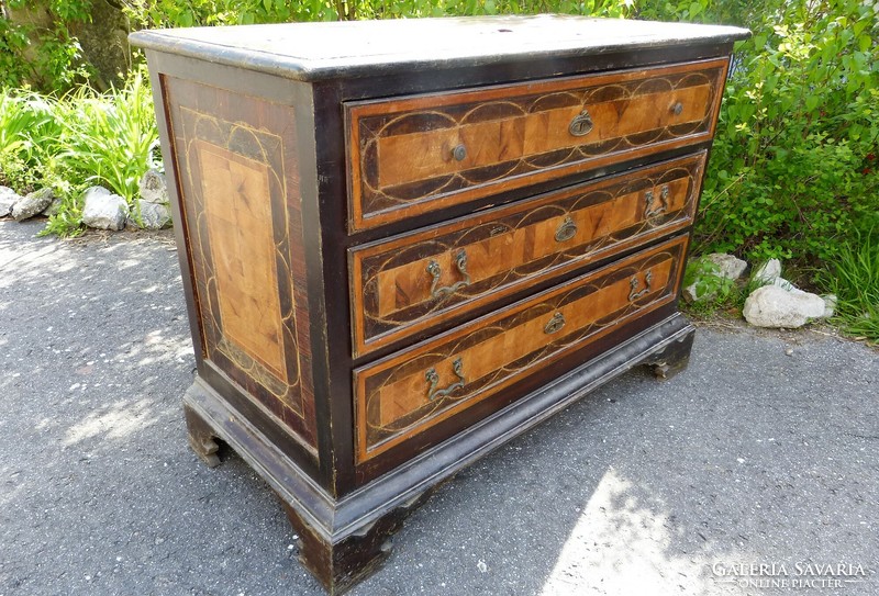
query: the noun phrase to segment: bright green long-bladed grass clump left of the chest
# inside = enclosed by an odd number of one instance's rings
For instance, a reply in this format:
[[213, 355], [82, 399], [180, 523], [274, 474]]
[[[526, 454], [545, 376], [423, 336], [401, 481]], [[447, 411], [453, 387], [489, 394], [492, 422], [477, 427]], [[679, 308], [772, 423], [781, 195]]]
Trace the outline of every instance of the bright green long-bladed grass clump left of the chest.
[[158, 160], [152, 94], [141, 72], [108, 93], [81, 87], [59, 99], [0, 95], [0, 184], [20, 193], [52, 187], [62, 206], [48, 233], [80, 232], [81, 195], [90, 185], [134, 206], [141, 177]]

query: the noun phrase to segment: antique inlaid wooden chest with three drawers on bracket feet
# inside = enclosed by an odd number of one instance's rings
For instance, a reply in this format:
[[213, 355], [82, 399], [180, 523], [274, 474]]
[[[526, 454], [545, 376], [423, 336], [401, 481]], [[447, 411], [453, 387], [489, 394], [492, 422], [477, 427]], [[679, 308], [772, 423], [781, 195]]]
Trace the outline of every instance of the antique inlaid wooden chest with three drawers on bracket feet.
[[689, 356], [689, 234], [744, 30], [534, 16], [140, 32], [198, 378], [190, 443], [331, 591], [408, 509]]

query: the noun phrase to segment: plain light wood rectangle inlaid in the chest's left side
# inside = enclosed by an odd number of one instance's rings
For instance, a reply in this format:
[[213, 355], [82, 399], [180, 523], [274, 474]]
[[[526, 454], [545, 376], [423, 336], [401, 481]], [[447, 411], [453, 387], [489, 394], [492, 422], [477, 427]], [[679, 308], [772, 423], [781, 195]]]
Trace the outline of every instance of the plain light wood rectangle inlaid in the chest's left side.
[[197, 146], [223, 331], [286, 383], [268, 168]]

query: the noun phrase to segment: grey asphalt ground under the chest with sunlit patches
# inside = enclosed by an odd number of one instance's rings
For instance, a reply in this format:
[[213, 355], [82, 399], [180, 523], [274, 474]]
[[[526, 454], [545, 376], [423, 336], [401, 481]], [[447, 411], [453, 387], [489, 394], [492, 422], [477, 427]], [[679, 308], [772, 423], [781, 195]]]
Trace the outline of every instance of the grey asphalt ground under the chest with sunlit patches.
[[[170, 234], [42, 225], [0, 222], [0, 596], [322, 594], [263, 481], [189, 451]], [[878, 397], [874, 349], [702, 327], [441, 487], [351, 594], [879, 594]]]

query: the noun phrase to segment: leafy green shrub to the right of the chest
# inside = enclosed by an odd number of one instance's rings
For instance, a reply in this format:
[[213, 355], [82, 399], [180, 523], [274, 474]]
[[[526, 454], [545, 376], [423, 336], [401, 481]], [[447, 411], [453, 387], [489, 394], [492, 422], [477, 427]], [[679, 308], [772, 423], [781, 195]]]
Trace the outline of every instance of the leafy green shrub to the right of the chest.
[[749, 15], [697, 240], [750, 260], [832, 258], [879, 221], [879, 4], [764, 0]]

